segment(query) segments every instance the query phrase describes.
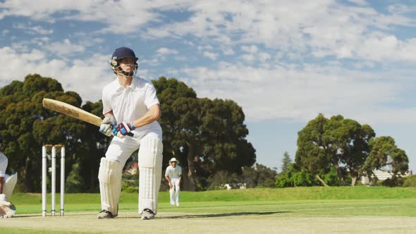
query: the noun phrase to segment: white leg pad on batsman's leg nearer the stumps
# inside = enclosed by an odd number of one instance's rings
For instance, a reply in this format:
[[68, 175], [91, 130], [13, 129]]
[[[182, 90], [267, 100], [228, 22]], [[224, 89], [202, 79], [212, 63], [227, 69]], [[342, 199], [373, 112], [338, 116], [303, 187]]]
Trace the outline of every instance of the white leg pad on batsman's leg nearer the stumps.
[[101, 208], [117, 216], [121, 193], [121, 164], [112, 159], [102, 158], [98, 172]]

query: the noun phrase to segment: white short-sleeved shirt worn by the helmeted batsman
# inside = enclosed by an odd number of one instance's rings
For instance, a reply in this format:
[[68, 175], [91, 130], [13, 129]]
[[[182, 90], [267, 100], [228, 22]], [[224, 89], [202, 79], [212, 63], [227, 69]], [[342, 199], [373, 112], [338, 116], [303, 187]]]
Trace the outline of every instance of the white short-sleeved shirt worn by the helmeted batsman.
[[[133, 121], [141, 118], [147, 113], [150, 106], [159, 104], [156, 89], [152, 82], [133, 77], [131, 85], [123, 87], [118, 79], [106, 85], [102, 92], [103, 114], [113, 111], [117, 123]], [[155, 129], [161, 131], [157, 121], [133, 130], [140, 132], [143, 130]]]

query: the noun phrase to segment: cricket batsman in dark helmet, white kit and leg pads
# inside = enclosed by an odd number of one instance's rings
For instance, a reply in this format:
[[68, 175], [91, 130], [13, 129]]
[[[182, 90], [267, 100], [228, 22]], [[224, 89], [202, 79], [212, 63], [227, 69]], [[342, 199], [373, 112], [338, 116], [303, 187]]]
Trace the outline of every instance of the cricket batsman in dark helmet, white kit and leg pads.
[[[140, 170], [139, 214], [142, 219], [152, 219], [157, 214], [163, 151], [162, 131], [157, 120], [161, 110], [152, 82], [135, 77], [137, 59], [132, 49], [116, 49], [110, 60], [116, 79], [106, 85], [102, 92], [105, 118], [99, 131], [116, 137], [99, 165], [102, 211], [98, 218], [114, 218], [118, 215], [121, 173], [127, 159], [137, 149]], [[131, 136], [131, 133], [134, 135]]]

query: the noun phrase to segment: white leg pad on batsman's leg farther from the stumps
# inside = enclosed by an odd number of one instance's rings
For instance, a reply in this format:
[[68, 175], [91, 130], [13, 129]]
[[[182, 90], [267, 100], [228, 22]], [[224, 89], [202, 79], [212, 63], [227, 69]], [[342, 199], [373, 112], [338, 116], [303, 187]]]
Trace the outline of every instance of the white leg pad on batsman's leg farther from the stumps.
[[139, 149], [139, 214], [150, 209], [157, 214], [157, 195], [161, 182], [163, 144], [157, 137], [140, 142]]

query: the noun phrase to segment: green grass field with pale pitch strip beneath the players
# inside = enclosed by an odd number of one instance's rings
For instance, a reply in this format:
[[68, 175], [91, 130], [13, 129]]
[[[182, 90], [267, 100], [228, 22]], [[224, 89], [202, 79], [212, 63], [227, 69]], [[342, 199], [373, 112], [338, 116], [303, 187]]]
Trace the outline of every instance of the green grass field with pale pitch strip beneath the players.
[[[48, 199], [50, 201], [50, 197]], [[56, 208], [59, 209], [59, 194], [56, 199]], [[100, 210], [99, 194], [67, 194], [64, 217], [41, 217], [42, 199], [39, 194], [18, 193], [13, 195], [11, 202], [17, 207], [16, 218], [9, 219], [6, 226], [0, 226], [0, 233], [57, 230], [102, 233], [114, 227], [118, 227], [114, 230], [121, 233], [169, 233], [176, 229], [180, 233], [222, 233], [222, 230], [228, 233], [295, 230], [309, 233], [337, 230], [407, 233], [416, 230], [415, 187], [293, 187], [181, 192], [180, 207], [171, 207], [169, 192], [160, 192], [159, 214], [154, 221], [139, 219], [136, 193], [122, 193], [119, 217], [110, 221], [96, 219]], [[76, 227], [72, 226], [74, 223]]]

